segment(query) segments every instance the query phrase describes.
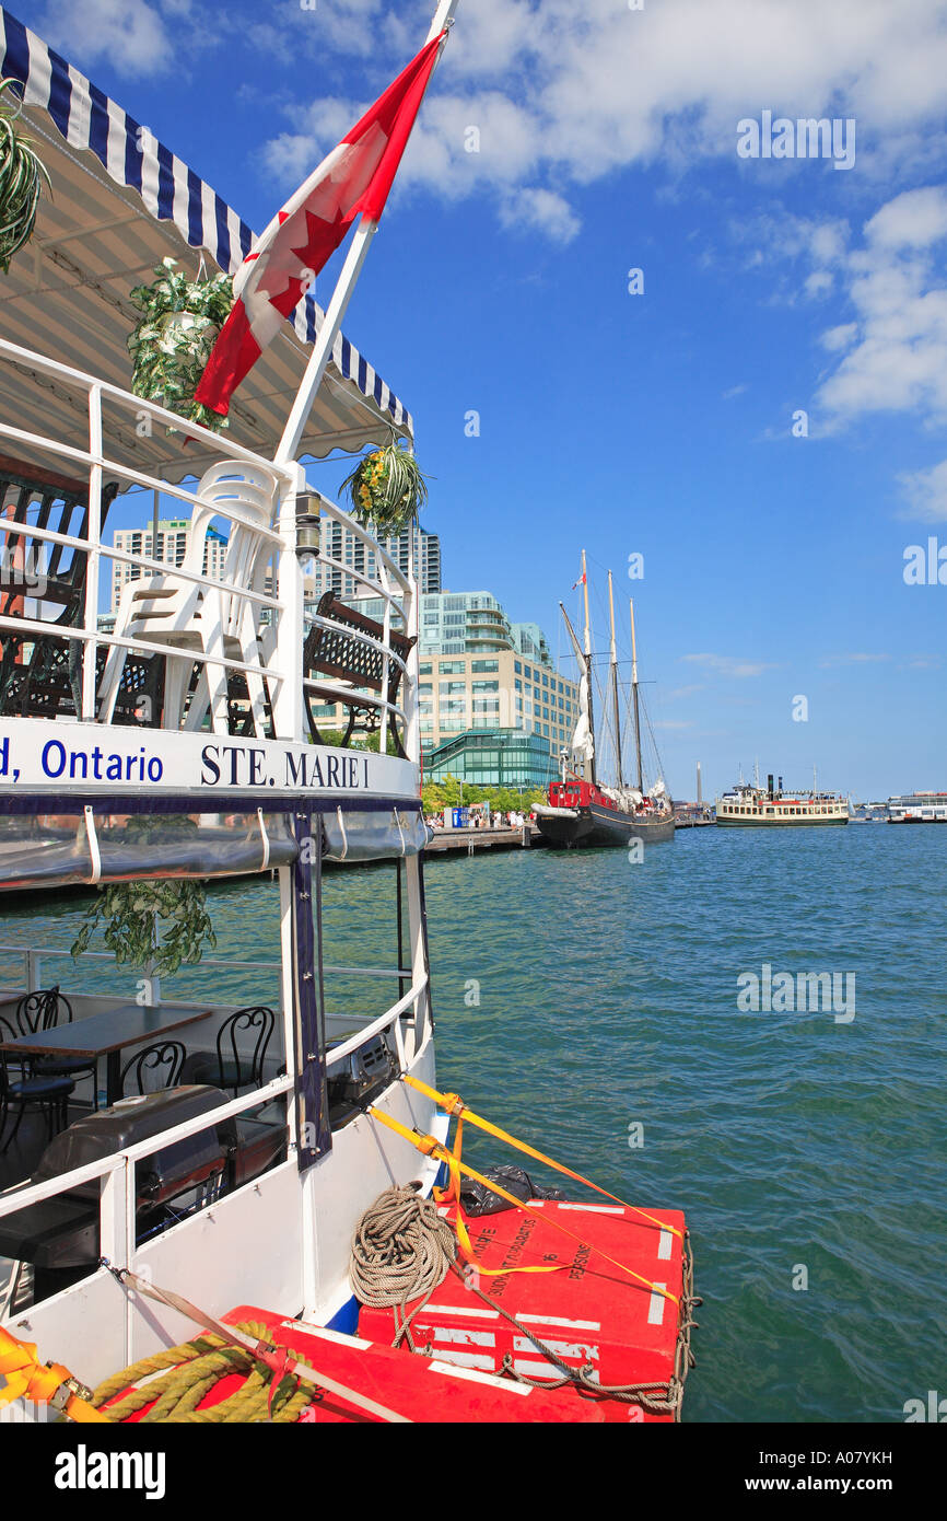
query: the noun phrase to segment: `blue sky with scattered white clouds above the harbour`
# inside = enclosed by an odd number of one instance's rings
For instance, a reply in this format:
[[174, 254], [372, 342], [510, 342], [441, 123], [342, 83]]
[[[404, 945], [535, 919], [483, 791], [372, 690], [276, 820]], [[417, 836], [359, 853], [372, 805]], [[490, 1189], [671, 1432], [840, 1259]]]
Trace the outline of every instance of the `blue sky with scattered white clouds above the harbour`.
[[[261, 228], [433, 0], [11, 9]], [[945, 110], [947, 0], [458, 5], [345, 332], [445, 589], [634, 596], [676, 797], [947, 789]]]

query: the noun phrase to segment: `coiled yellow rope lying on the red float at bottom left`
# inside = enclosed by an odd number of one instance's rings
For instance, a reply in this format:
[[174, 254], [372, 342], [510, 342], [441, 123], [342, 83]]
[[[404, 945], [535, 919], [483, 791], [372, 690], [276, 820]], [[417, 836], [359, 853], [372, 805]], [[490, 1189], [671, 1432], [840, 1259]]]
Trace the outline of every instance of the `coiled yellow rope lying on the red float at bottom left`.
[[[257, 1320], [240, 1322], [237, 1331], [257, 1342], [269, 1340], [268, 1328]], [[292, 1348], [287, 1348], [287, 1354], [301, 1357]], [[154, 1373], [161, 1377], [150, 1377]], [[242, 1387], [208, 1410], [198, 1410], [205, 1395], [231, 1373], [246, 1375]], [[112, 1373], [96, 1389], [93, 1405], [102, 1408], [106, 1399], [114, 1399], [129, 1384], [138, 1384], [141, 1380], [147, 1381], [140, 1389], [131, 1389], [123, 1399], [102, 1410], [102, 1415], [119, 1422], [154, 1402], [154, 1408], [141, 1416], [141, 1424], [269, 1421], [286, 1424], [298, 1421], [316, 1395], [312, 1384], [302, 1383], [293, 1373], [284, 1375], [272, 1389], [274, 1375], [264, 1363], [257, 1361], [243, 1348], [226, 1346], [219, 1335], [207, 1332], [166, 1352], [143, 1357], [120, 1373]]]

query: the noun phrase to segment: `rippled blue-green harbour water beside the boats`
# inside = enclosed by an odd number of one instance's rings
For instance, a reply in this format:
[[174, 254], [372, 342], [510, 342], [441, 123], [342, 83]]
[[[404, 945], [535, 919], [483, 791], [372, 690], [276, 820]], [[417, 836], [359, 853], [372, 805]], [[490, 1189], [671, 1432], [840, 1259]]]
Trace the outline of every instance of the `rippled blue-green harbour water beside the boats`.
[[[640, 864], [514, 850], [426, 879], [441, 1086], [629, 1202], [687, 1212], [704, 1305], [686, 1421], [900, 1422], [947, 1395], [947, 832], [684, 830]], [[392, 881], [327, 878], [333, 960], [395, 966], [372, 908]], [[68, 946], [74, 899], [5, 907], [5, 946]], [[272, 884], [216, 888], [213, 917], [216, 957], [277, 957]], [[853, 975], [854, 1016], [743, 1011], [737, 980], [765, 966]], [[65, 990], [105, 983], [53, 969]], [[217, 998], [274, 986], [213, 970]], [[468, 1154], [512, 1159], [483, 1138]]]

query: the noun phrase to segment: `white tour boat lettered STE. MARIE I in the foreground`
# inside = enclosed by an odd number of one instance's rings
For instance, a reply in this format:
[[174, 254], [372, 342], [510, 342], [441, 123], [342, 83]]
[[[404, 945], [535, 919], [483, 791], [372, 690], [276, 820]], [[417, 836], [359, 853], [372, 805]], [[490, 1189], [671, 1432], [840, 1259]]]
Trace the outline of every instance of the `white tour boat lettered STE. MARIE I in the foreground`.
[[[451, 14], [442, 0], [430, 38]], [[146, 966], [129, 1001], [70, 987], [58, 948], [5, 938], [21, 975], [0, 989], [0, 1421], [122, 1424], [129, 1445], [152, 1430], [140, 1418], [676, 1421], [684, 1215], [607, 1194], [438, 1091], [418, 586], [301, 462], [392, 426], [410, 438], [410, 415], [333, 332], [345, 303], [322, 315], [312, 297], [302, 342], [284, 324], [226, 433], [132, 394], [131, 278], [198, 249], [234, 271], [252, 234], [5, 9], [0, 26], [53, 181], [0, 303], [5, 548], [53, 546], [43, 599], [0, 607], [0, 894], [269, 870], [280, 943], [272, 1001], [248, 980], [234, 1004], [213, 960], [201, 998]], [[222, 570], [109, 548], [129, 490], [223, 523]], [[348, 573], [386, 611], [331, 599], [306, 634], [301, 558], [334, 567], [321, 526], [340, 520], [377, 567]], [[137, 578], [105, 631], [114, 561]], [[313, 703], [395, 753], [321, 742]], [[380, 966], [333, 960], [324, 867], [340, 859], [394, 867], [362, 876], [391, 925]], [[353, 978], [357, 995], [333, 993]], [[569, 1196], [476, 1171], [462, 1126]]]

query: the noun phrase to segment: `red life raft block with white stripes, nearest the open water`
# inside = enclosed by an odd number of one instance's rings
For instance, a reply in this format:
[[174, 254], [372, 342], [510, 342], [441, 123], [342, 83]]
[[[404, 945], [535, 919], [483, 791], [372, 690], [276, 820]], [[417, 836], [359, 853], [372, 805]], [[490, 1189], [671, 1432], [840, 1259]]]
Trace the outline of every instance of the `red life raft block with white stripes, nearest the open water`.
[[[439, 1212], [453, 1223], [456, 1206]], [[480, 1267], [559, 1270], [488, 1276], [473, 1267], [464, 1282], [451, 1272], [426, 1303], [409, 1300], [403, 1316], [363, 1307], [359, 1332], [392, 1343], [407, 1319], [410, 1338], [401, 1335], [400, 1346], [409, 1354], [413, 1346], [470, 1372], [535, 1380], [550, 1395], [556, 1384], [552, 1419], [584, 1419], [594, 1407], [607, 1421], [676, 1421], [692, 1363], [692, 1258], [679, 1211], [651, 1209], [649, 1217], [619, 1205], [537, 1199], [529, 1212], [465, 1217]]]

